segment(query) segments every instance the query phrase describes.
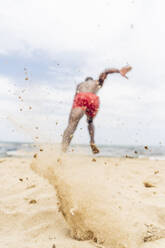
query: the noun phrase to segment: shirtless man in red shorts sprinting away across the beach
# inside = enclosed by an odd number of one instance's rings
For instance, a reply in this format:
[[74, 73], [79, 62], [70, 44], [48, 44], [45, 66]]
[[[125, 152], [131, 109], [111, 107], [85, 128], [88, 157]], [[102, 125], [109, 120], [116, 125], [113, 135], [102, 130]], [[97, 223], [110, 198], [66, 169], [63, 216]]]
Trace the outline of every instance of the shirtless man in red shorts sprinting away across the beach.
[[[131, 70], [130, 66], [125, 66], [118, 69], [107, 69], [102, 72], [98, 80], [93, 80], [92, 77], [87, 77], [84, 82], [78, 84], [76, 94], [73, 101], [73, 106], [69, 115], [68, 126], [63, 134], [62, 150], [67, 151], [71, 142], [76, 127], [84, 114], [87, 116], [88, 131], [90, 136], [90, 146], [93, 153], [99, 153], [99, 149], [94, 141], [94, 124], [93, 119], [99, 109], [99, 97], [96, 95], [98, 90], [103, 86], [104, 80], [111, 73], [120, 73], [127, 78], [126, 73]], [[127, 78], [128, 79], [128, 78]]]

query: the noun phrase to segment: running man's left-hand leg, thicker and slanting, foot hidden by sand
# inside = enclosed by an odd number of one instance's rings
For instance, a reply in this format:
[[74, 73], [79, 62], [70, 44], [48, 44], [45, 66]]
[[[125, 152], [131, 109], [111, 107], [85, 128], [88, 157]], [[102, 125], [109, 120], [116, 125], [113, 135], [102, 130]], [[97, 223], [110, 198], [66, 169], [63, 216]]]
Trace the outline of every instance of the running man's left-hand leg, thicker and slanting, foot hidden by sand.
[[84, 111], [81, 108], [73, 108], [69, 116], [68, 126], [64, 131], [62, 139], [62, 150], [67, 151], [67, 148], [72, 140], [73, 134], [79, 123], [79, 120], [83, 117]]

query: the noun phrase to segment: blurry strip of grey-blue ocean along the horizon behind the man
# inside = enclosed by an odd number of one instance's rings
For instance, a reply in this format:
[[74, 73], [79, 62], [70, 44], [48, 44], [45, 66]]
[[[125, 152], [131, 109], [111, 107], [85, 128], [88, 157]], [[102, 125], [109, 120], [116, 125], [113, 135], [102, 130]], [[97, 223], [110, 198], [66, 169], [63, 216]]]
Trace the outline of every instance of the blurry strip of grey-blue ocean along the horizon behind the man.
[[[165, 146], [98, 145], [102, 157], [150, 158], [165, 160]], [[37, 151], [34, 143], [0, 142], [0, 157], [26, 157]], [[90, 155], [89, 145], [71, 145], [69, 153]]]

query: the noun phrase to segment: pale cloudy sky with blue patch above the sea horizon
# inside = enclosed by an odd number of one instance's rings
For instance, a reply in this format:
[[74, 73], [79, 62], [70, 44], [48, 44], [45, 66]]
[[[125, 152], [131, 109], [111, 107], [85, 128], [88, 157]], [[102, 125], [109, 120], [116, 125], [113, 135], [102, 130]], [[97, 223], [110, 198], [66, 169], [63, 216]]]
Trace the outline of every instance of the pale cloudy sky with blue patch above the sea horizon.
[[[105, 68], [97, 144], [165, 144], [162, 0], [5, 0], [0, 8], [0, 141], [60, 142], [76, 84]], [[85, 117], [73, 143], [88, 143]]]

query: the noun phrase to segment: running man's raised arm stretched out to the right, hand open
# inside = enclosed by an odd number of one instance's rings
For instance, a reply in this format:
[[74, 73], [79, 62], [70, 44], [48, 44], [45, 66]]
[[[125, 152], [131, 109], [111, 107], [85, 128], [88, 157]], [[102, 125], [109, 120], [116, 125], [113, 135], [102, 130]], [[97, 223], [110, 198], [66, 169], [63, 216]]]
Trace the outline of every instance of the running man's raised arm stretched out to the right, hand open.
[[[121, 68], [120, 70], [115, 69], [115, 68], [110, 68], [105, 70], [104, 72], [102, 72], [99, 76], [99, 85], [103, 85], [104, 80], [107, 78], [108, 74], [112, 74], [112, 73], [120, 73], [123, 77], [127, 78], [126, 74], [127, 72], [129, 72], [132, 69], [131, 66], [125, 66], [123, 68]], [[128, 79], [128, 78], [127, 78]]]

